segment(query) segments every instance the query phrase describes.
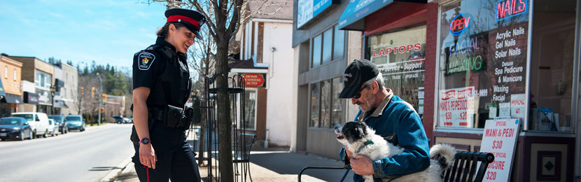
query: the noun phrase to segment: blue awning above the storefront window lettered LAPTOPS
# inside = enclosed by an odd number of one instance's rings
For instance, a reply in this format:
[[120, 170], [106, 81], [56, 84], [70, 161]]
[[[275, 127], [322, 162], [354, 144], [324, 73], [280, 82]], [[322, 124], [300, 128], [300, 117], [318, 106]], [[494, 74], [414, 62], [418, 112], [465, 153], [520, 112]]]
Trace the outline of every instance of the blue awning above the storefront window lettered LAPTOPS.
[[339, 29], [365, 30], [365, 17], [393, 2], [427, 3], [427, 0], [351, 0], [339, 18]]

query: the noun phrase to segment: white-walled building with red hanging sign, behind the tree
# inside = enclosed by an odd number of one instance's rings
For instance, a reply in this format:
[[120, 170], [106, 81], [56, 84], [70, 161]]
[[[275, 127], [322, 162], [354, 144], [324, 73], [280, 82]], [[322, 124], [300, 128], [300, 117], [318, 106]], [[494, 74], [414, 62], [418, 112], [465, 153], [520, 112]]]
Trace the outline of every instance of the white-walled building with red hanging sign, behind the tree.
[[258, 142], [268, 139], [268, 144], [274, 146], [290, 146], [288, 129], [296, 120], [296, 92], [292, 89], [296, 71], [290, 47], [292, 4], [293, 1], [282, 0], [248, 1], [244, 8], [250, 14], [243, 17], [236, 35], [239, 59], [230, 59], [228, 64], [229, 76], [240, 74], [246, 79], [246, 118], [237, 127], [246, 127], [257, 135]]

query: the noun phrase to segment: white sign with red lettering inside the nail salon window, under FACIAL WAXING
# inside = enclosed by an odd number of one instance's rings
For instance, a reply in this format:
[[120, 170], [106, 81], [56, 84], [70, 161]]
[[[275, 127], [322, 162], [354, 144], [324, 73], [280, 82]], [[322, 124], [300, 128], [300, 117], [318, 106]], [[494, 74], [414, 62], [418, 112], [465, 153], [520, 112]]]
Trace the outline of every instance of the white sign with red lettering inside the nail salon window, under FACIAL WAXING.
[[474, 92], [474, 87], [440, 90], [440, 124], [447, 127], [472, 127]]

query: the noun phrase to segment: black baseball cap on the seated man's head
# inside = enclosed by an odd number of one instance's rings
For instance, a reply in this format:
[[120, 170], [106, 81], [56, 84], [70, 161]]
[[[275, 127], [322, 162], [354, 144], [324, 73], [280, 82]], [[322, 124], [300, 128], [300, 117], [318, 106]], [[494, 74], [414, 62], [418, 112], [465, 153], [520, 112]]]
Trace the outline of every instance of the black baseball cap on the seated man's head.
[[367, 59], [355, 59], [343, 73], [343, 90], [339, 98], [351, 99], [359, 92], [363, 83], [379, 74], [377, 66]]

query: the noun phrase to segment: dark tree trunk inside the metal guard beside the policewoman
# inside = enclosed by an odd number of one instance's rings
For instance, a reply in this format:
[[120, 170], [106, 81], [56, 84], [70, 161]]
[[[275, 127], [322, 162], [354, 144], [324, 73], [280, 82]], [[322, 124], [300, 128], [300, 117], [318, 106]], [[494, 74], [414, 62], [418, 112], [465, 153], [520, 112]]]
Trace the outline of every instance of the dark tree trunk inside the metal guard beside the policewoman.
[[232, 121], [230, 120], [230, 95], [228, 89], [228, 41], [225, 32], [219, 34], [217, 40], [216, 72], [218, 76], [218, 167], [220, 178], [224, 181], [234, 180], [232, 166]]

